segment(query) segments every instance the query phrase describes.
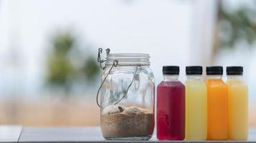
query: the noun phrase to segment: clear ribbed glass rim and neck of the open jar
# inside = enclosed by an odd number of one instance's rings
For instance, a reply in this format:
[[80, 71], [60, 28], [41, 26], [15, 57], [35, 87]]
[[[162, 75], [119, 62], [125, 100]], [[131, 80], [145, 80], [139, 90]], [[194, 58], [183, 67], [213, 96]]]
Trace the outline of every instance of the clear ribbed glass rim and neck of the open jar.
[[106, 65], [112, 65], [114, 60], [122, 66], [149, 66], [150, 54], [111, 53], [106, 56]]

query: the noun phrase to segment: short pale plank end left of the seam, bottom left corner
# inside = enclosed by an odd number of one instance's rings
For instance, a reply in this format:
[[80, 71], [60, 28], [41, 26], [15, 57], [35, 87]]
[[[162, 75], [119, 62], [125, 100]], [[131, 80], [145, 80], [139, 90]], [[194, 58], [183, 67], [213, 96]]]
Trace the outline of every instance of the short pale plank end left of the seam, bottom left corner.
[[22, 126], [0, 126], [0, 142], [18, 142]]

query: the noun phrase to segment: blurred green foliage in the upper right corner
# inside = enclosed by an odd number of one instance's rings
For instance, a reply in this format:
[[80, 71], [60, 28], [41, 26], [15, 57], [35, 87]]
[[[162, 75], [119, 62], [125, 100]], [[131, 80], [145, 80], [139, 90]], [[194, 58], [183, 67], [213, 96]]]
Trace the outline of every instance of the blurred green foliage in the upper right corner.
[[245, 41], [253, 44], [256, 40], [256, 3], [252, 6], [240, 6], [230, 10], [229, 7], [219, 5], [219, 32], [224, 36], [219, 39], [219, 46], [234, 48], [235, 44]]

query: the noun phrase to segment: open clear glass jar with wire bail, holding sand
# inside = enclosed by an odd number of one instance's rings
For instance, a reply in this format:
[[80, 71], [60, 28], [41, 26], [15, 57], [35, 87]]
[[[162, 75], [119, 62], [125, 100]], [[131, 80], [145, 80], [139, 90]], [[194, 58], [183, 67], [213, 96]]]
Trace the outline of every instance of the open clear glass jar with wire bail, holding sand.
[[[102, 49], [101, 49], [102, 51]], [[105, 139], [152, 137], [155, 127], [155, 77], [149, 54], [109, 54], [99, 97], [101, 132]]]

